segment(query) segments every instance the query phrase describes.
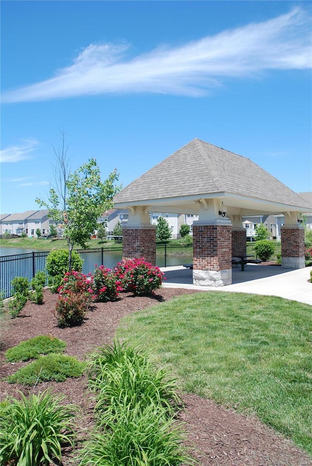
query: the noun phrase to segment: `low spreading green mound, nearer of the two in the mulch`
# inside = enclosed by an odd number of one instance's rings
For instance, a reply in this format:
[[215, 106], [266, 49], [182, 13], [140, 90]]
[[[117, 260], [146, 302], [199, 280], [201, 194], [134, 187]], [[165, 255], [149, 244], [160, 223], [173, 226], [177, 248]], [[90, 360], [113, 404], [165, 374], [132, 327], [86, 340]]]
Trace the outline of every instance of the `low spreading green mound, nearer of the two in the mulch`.
[[72, 356], [51, 353], [39, 356], [35, 361], [9, 375], [9, 384], [36, 385], [40, 382], [63, 382], [68, 377], [80, 377], [83, 363]]

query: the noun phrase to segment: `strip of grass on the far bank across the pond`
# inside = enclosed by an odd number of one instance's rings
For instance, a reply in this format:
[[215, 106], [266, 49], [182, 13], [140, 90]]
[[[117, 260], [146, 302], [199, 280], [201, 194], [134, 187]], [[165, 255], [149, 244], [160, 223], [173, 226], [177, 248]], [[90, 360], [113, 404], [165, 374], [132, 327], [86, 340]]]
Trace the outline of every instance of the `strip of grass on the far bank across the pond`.
[[[51, 251], [52, 249], [67, 249], [66, 239], [44, 239], [44, 238], [9, 238], [9, 239], [0, 239], [0, 246], [3, 248], [27, 248], [38, 251]], [[96, 248], [120, 248], [121, 243], [115, 243], [115, 241], [103, 242], [100, 239], [90, 239], [86, 242], [86, 246], [91, 249]], [[74, 249], [81, 249], [81, 247], [76, 244]]]

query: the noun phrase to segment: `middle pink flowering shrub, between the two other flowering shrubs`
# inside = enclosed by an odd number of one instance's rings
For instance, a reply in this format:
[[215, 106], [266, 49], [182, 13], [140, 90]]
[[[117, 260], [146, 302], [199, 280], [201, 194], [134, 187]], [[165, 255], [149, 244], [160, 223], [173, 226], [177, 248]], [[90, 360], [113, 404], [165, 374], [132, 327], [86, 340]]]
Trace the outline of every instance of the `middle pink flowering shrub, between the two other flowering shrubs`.
[[118, 292], [122, 291], [121, 281], [110, 269], [100, 266], [93, 274], [93, 290], [96, 301], [115, 301]]

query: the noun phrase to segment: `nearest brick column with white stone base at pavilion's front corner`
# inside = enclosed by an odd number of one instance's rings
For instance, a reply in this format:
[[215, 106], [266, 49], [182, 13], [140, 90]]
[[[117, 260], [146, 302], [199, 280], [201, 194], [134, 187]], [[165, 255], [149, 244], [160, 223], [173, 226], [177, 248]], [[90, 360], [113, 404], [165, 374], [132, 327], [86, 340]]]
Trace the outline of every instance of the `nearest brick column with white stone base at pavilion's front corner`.
[[193, 225], [193, 283], [220, 287], [232, 283], [231, 224]]

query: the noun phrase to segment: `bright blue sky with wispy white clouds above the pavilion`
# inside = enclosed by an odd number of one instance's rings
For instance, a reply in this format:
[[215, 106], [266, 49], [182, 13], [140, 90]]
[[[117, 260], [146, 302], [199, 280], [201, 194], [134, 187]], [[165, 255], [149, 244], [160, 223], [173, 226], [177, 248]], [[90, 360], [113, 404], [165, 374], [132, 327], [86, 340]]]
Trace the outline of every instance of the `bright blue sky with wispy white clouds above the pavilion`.
[[59, 128], [72, 171], [95, 157], [123, 186], [197, 137], [311, 191], [311, 18], [310, 1], [2, 0], [0, 212], [39, 208]]

